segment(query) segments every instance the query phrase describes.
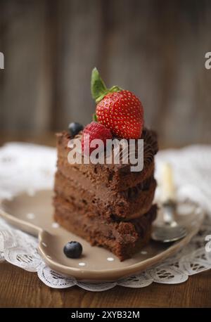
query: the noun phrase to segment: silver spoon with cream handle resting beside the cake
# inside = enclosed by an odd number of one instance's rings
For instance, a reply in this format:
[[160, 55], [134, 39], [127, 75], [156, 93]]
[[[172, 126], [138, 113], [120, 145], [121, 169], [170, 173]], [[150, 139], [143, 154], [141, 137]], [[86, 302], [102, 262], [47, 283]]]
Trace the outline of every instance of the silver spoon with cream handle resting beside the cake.
[[184, 238], [187, 234], [186, 228], [175, 220], [177, 210], [174, 202], [174, 184], [172, 167], [169, 164], [163, 165], [162, 169], [162, 224], [153, 227], [151, 238], [162, 243], [170, 243]]

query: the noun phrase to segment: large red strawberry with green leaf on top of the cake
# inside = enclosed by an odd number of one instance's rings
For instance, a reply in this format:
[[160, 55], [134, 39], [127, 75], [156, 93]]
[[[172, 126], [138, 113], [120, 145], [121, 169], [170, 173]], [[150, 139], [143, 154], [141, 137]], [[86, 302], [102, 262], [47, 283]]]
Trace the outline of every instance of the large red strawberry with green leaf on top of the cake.
[[91, 94], [95, 99], [96, 118], [120, 138], [139, 139], [143, 129], [143, 106], [131, 91], [118, 86], [106, 88], [98, 70], [91, 75]]

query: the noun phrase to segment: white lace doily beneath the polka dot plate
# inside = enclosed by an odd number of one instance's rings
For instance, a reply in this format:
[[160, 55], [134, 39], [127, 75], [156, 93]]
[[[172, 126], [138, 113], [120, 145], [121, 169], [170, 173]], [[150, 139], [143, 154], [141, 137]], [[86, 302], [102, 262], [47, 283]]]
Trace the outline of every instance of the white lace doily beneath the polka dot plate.
[[[166, 150], [156, 157], [156, 173], [160, 177], [163, 161], [172, 163], [177, 184], [177, 197], [198, 202], [207, 217], [197, 236], [182, 250], [146, 271], [111, 283], [82, 283], [75, 278], [52, 271], [37, 252], [37, 238], [12, 228], [0, 219], [0, 262], [7, 261], [37, 276], [51, 288], [70, 288], [78, 285], [91, 291], [103, 291], [122, 285], [143, 288], [153, 282], [182, 283], [191, 276], [211, 268], [211, 147], [191, 146], [181, 150]], [[12, 198], [21, 191], [53, 187], [56, 170], [56, 150], [28, 143], [8, 143], [0, 148], [0, 198]], [[159, 200], [159, 188], [156, 196]], [[209, 237], [210, 235], [210, 237]], [[205, 237], [208, 236], [205, 240]], [[210, 251], [209, 251], [210, 250]], [[1, 263], [0, 263], [1, 264]]]

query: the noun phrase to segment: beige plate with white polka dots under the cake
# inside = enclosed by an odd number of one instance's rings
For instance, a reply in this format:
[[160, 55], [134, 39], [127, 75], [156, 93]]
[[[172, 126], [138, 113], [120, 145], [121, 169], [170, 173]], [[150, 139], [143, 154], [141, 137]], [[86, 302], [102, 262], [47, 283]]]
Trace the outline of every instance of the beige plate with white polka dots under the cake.
[[[92, 247], [53, 222], [52, 191], [38, 191], [34, 195], [23, 193], [13, 200], [3, 200], [0, 215], [22, 231], [38, 236], [38, 250], [44, 262], [55, 271], [75, 276], [78, 281], [115, 281], [161, 262], [191, 240], [204, 217], [197, 205], [190, 202], [180, 204], [177, 221], [187, 228], [185, 238], [168, 244], [151, 240], [132, 259], [120, 262], [108, 250]], [[157, 220], [159, 217], [158, 214]], [[77, 240], [83, 246], [79, 259], [69, 259], [63, 253], [63, 246], [70, 240]]]

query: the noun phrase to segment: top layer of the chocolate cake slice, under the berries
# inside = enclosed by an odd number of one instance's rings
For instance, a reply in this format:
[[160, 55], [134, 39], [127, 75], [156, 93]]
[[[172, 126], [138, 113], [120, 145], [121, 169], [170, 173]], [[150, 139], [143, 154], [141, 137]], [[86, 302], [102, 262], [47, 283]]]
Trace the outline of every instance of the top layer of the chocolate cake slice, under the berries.
[[[77, 139], [81, 139], [79, 134]], [[81, 165], [68, 163], [68, 142], [70, 135], [63, 131], [57, 134], [58, 167], [65, 176], [71, 177], [71, 171], [75, 170], [83, 176], [87, 176], [91, 182], [104, 184], [113, 191], [125, 191], [136, 186], [138, 183], [150, 176], [154, 171], [154, 155], [158, 151], [158, 141], [154, 131], [144, 129], [141, 136], [143, 139], [143, 170], [131, 172], [131, 165]]]

